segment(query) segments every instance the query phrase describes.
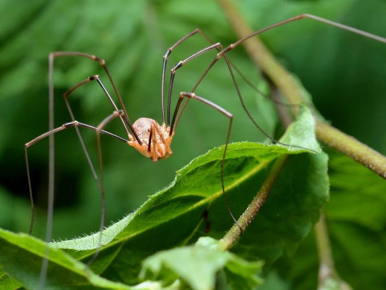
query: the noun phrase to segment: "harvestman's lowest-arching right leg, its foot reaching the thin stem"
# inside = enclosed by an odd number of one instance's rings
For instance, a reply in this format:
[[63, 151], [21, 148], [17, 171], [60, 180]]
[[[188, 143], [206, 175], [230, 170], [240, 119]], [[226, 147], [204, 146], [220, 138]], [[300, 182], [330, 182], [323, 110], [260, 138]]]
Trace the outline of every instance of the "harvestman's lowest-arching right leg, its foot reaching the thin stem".
[[208, 101], [207, 99], [204, 99], [202, 97], [196, 96], [194, 93], [181, 92], [181, 94], [179, 95], [179, 99], [178, 99], [177, 105], [176, 105], [176, 109], [174, 110], [173, 121], [172, 121], [172, 124], [171, 124], [170, 133], [169, 133], [170, 136], [173, 133], [174, 121], [176, 120], [176, 116], [178, 114], [179, 107], [181, 106], [181, 102], [182, 102], [184, 97], [188, 97], [188, 98], [191, 98], [191, 99], [196, 99], [196, 100], [198, 100], [200, 102], [203, 102], [204, 104], [207, 104], [208, 106], [211, 106], [212, 108], [216, 109], [217, 111], [219, 111], [220, 113], [222, 113], [223, 115], [225, 115], [225, 116], [227, 116], [229, 118], [229, 129], [228, 129], [227, 140], [225, 142], [224, 153], [222, 155], [222, 162], [221, 162], [221, 186], [222, 186], [222, 193], [223, 193], [224, 200], [225, 200], [225, 205], [227, 206], [229, 215], [232, 217], [232, 220], [240, 228], [240, 235], [241, 235], [242, 234], [242, 228], [241, 228], [240, 224], [237, 222], [237, 220], [235, 219], [234, 215], [232, 214], [232, 211], [230, 210], [229, 203], [228, 203], [228, 200], [227, 200], [227, 194], [225, 193], [225, 187], [224, 187], [224, 163], [225, 163], [225, 156], [227, 155], [227, 148], [228, 148], [228, 143], [229, 143], [230, 130], [232, 129], [233, 115], [231, 113], [229, 113], [228, 111], [226, 111], [225, 109], [223, 109], [222, 107], [218, 106], [217, 104], [215, 104], [215, 103], [213, 103], [211, 101]]

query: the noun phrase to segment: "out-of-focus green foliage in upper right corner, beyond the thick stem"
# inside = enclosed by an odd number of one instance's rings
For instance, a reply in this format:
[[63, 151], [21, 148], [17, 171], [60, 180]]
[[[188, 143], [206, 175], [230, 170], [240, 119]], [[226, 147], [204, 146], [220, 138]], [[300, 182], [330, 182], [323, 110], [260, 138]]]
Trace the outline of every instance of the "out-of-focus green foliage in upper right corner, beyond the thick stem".
[[[309, 13], [386, 36], [384, 1], [247, 0], [239, 7], [254, 29]], [[312, 19], [273, 29], [261, 39], [300, 78], [324, 118], [386, 154], [383, 43]]]

